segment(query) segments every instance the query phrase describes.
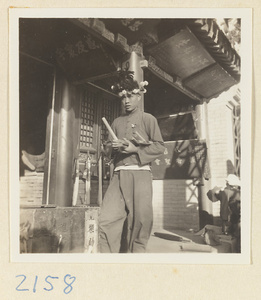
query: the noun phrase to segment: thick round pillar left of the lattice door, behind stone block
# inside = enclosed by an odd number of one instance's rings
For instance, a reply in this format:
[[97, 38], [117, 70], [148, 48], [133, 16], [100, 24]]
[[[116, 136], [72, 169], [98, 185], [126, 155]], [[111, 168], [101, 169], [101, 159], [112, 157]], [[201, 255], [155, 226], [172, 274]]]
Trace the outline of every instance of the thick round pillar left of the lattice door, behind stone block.
[[47, 151], [48, 165], [45, 180], [44, 205], [72, 206], [73, 163], [75, 157], [76, 88], [65, 76], [57, 73], [52, 128]]

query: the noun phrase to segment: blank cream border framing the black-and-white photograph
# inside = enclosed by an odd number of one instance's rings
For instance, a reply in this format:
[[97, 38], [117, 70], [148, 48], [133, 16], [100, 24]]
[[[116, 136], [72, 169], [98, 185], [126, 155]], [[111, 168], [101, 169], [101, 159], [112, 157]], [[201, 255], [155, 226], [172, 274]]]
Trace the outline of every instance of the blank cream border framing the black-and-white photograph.
[[[19, 18], [241, 18], [241, 253], [19, 253]], [[146, 16], [146, 17], [144, 17]], [[249, 264], [251, 262], [252, 9], [250, 8], [11, 8], [9, 10], [9, 196], [11, 262]], [[249, 143], [247, 143], [249, 141]]]

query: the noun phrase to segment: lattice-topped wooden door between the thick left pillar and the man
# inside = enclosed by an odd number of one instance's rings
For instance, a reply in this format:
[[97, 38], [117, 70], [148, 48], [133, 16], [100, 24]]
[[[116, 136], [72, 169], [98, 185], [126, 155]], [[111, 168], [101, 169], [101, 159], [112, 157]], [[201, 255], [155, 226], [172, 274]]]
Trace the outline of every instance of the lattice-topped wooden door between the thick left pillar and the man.
[[[82, 93], [80, 110], [80, 179], [77, 205], [96, 206], [101, 201], [108, 187], [110, 177], [109, 166], [105, 163], [101, 154], [102, 144], [108, 137], [102, 117], [105, 117], [111, 124], [119, 115], [120, 101], [116, 96], [102, 92], [94, 87], [86, 87]], [[85, 177], [88, 159], [91, 160], [90, 199], [86, 203], [88, 184], [86, 184]]]

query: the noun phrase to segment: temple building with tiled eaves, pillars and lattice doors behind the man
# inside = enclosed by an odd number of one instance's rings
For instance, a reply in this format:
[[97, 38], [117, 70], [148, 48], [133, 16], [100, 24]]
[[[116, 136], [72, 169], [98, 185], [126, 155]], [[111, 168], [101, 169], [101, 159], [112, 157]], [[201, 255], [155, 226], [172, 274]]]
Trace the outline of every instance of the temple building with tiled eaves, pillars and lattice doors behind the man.
[[207, 191], [240, 177], [240, 41], [230, 21], [19, 19], [21, 253], [98, 251], [111, 175], [102, 118], [121, 112], [118, 70], [148, 81], [141, 109], [164, 139], [151, 166], [155, 229], [221, 224]]

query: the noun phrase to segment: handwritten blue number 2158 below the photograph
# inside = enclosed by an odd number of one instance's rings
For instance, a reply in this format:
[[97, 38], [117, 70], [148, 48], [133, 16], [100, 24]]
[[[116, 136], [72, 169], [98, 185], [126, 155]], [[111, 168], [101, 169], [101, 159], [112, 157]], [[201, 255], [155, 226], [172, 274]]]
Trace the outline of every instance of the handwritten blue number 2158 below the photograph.
[[[26, 276], [22, 274], [22, 275], [17, 275], [16, 277], [21, 277], [21, 282], [16, 287], [16, 290], [18, 292], [29, 291], [29, 289], [22, 288], [22, 285], [26, 280]], [[53, 282], [55, 279], [59, 279], [59, 277], [54, 277], [54, 276], [50, 276], [50, 275], [45, 277], [45, 282], [48, 284], [48, 287], [44, 288], [45, 291], [50, 292], [54, 289]], [[65, 294], [69, 294], [73, 290], [72, 284], [74, 283], [75, 280], [76, 280], [76, 277], [71, 276], [70, 274], [67, 274], [64, 276], [63, 281], [66, 284], [66, 287], [64, 288], [63, 292]], [[38, 282], [38, 276], [36, 275], [35, 280], [34, 280], [34, 286], [33, 286], [34, 293], [36, 292], [37, 282]]]

